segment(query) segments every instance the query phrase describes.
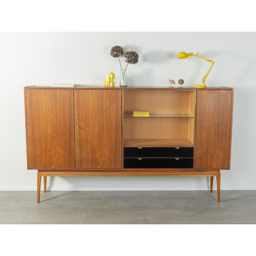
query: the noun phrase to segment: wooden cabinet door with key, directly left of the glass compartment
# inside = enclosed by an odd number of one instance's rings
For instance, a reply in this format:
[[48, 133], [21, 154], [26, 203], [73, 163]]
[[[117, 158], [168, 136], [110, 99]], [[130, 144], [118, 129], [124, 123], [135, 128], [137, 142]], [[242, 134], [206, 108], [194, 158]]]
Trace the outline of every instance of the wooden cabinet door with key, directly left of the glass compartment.
[[121, 168], [121, 90], [74, 93], [76, 168]]

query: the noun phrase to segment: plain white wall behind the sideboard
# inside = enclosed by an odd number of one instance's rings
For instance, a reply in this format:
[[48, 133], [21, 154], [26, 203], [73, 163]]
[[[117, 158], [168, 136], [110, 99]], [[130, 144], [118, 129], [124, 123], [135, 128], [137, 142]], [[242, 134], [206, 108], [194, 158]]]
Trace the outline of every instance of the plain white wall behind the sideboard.
[[[178, 60], [181, 51], [214, 60], [208, 86], [234, 87], [231, 170], [221, 171], [221, 189], [256, 189], [254, 32], [16, 32], [0, 33], [0, 190], [36, 190], [36, 170], [27, 170], [24, 86], [77, 83], [101, 86], [120, 64], [112, 46], [136, 51], [128, 86], [201, 84], [210, 64]], [[125, 66], [124, 57], [121, 63]], [[209, 189], [207, 177], [50, 177], [52, 190]], [[214, 179], [216, 189], [216, 180]]]

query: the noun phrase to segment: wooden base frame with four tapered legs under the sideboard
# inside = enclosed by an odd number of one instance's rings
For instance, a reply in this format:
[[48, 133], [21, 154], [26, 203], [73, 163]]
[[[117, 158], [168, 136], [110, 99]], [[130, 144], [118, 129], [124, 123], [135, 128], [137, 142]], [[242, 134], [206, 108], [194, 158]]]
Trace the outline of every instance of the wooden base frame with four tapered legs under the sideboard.
[[47, 176], [208, 176], [212, 192], [213, 177], [217, 179], [217, 197], [220, 203], [220, 170], [40, 170], [37, 172], [37, 203], [40, 202], [41, 177], [44, 177], [44, 192], [46, 192]]

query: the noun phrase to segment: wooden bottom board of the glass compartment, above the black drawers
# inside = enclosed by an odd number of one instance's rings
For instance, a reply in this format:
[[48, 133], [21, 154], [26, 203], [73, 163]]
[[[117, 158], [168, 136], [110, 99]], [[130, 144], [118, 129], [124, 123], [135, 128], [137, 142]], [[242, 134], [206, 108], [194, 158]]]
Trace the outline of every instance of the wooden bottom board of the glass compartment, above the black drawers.
[[193, 146], [188, 139], [124, 139], [125, 146]]

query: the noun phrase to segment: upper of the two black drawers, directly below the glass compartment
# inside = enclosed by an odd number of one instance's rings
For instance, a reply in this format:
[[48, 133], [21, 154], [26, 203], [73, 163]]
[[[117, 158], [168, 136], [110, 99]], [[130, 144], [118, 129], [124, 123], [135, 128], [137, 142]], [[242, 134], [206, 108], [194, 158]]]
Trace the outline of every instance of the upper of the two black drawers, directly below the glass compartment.
[[124, 148], [124, 157], [194, 157], [194, 148]]

